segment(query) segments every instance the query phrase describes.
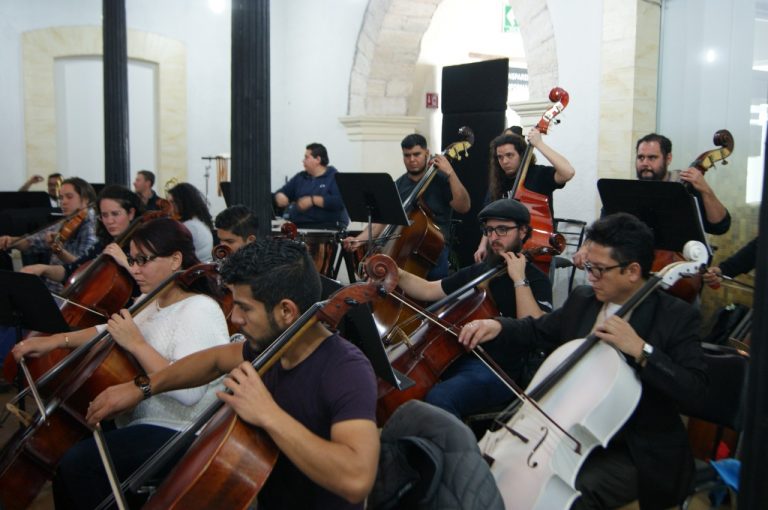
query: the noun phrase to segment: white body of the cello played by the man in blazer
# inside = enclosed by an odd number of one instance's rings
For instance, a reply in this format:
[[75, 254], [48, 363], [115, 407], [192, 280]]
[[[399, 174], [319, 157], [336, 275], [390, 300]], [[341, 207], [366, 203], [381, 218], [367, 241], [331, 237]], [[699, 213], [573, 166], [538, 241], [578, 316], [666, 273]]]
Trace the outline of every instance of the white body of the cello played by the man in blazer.
[[[536, 372], [536, 385], [585, 340], [553, 352]], [[580, 443], [565, 436], [534, 406], [523, 403], [506, 427], [487, 432], [480, 450], [494, 459], [491, 473], [508, 510], [570, 508], [579, 496], [576, 475], [589, 452], [605, 446], [640, 400], [640, 381], [624, 356], [598, 342], [543, 398], [539, 407]], [[528, 439], [523, 442], [512, 429]]]

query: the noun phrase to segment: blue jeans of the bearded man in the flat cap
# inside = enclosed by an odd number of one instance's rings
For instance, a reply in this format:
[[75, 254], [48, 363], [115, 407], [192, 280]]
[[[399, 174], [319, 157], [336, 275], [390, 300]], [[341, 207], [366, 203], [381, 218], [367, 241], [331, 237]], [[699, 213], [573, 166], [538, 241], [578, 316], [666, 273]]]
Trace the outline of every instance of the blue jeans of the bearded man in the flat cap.
[[512, 392], [479, 359], [466, 354], [443, 373], [424, 399], [459, 419], [509, 402]]

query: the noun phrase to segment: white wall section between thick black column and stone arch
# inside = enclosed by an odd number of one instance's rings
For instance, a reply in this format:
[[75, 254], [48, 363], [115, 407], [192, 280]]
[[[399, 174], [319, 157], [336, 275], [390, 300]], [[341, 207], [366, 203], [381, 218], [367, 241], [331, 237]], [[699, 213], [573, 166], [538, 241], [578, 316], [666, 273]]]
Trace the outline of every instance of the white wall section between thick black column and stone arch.
[[332, 165], [359, 171], [339, 118], [365, 0], [279, 0], [271, 9], [272, 187], [302, 170], [304, 147], [318, 142]]

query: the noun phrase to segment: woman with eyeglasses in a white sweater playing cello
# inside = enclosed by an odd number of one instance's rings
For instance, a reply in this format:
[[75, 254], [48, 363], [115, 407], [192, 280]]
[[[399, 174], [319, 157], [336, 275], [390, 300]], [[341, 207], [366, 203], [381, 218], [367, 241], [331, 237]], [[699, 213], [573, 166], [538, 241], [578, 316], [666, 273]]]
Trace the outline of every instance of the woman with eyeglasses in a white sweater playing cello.
[[[131, 238], [126, 258], [142, 294], [152, 292], [178, 271], [200, 263], [189, 230], [169, 218], [151, 220], [139, 227]], [[19, 360], [56, 348], [73, 349], [106, 329], [136, 359], [144, 373], [156, 372], [188, 354], [229, 342], [224, 314], [209, 296], [215, 295], [216, 288], [208, 278], [198, 278], [188, 287], [173, 283], [135, 317], [121, 310], [104, 325], [24, 340], [13, 348], [13, 355]], [[151, 396], [151, 388], [141, 385], [141, 377], [135, 382], [137, 391], [144, 393], [144, 401], [115, 420], [116, 430], [106, 432], [109, 452], [121, 480], [216, 399], [216, 383]], [[70, 491], [76, 486], [83, 490]], [[54, 479], [57, 508], [93, 508], [109, 490], [93, 439], [81, 441], [68, 450]]]

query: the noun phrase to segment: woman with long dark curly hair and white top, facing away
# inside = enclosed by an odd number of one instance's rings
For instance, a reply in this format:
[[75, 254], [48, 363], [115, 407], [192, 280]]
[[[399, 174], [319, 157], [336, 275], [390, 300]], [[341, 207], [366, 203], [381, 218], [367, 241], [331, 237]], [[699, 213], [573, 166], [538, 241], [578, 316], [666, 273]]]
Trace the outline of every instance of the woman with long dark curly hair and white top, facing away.
[[168, 201], [179, 221], [192, 233], [197, 258], [203, 262], [213, 260], [213, 220], [200, 190], [188, 182], [179, 183], [168, 191]]

